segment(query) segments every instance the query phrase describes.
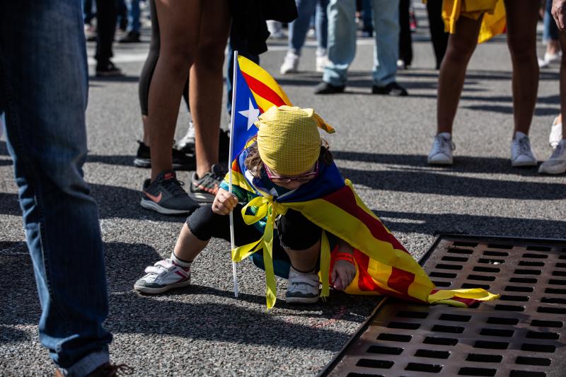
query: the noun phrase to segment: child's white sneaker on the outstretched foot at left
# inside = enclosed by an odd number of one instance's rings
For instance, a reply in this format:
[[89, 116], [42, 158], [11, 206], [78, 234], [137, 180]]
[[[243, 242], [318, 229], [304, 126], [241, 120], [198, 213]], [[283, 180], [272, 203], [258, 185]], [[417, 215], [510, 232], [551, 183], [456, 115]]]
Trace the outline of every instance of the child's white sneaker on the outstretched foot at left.
[[190, 285], [190, 270], [173, 264], [169, 258], [146, 267], [144, 272], [146, 275], [134, 284], [134, 289], [143, 294], [162, 294], [172, 288]]

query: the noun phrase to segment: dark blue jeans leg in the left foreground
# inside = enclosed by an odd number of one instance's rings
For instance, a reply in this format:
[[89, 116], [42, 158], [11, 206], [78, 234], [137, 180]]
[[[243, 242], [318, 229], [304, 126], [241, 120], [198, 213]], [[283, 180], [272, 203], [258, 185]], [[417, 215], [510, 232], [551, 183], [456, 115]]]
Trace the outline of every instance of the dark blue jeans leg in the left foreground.
[[88, 71], [81, 1], [0, 2], [0, 112], [42, 315], [68, 376], [108, 361], [98, 207], [83, 180]]

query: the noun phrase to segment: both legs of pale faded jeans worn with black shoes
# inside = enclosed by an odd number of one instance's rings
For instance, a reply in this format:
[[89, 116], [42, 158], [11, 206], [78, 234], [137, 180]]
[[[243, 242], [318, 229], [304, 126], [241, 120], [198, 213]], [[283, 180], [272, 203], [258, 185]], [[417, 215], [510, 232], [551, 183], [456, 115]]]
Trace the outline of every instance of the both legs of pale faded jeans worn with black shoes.
[[[372, 0], [374, 15], [374, 85], [395, 81], [399, 56], [399, 0]], [[343, 86], [356, 54], [354, 0], [330, 0], [328, 5], [328, 60], [323, 81]]]

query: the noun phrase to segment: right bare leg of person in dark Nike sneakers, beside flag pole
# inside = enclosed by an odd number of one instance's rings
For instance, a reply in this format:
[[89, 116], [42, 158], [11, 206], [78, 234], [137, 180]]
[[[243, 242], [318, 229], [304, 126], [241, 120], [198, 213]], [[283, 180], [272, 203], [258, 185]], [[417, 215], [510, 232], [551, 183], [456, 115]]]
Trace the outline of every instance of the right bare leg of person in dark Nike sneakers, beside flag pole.
[[[161, 20], [161, 18], [160, 18]], [[224, 79], [224, 49], [230, 29], [227, 1], [205, 1], [195, 64], [190, 69], [189, 98], [195, 123], [197, 175], [218, 163], [218, 140]], [[161, 59], [161, 57], [159, 58]]]

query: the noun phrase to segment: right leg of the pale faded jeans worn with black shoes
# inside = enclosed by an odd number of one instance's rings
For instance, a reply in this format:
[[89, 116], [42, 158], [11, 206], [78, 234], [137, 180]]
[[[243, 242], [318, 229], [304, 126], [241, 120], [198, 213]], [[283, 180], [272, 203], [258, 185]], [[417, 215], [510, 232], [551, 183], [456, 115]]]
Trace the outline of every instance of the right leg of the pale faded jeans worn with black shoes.
[[395, 81], [399, 57], [399, 0], [373, 0], [374, 85]]

